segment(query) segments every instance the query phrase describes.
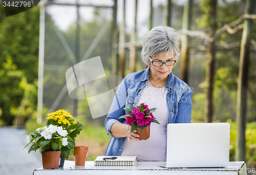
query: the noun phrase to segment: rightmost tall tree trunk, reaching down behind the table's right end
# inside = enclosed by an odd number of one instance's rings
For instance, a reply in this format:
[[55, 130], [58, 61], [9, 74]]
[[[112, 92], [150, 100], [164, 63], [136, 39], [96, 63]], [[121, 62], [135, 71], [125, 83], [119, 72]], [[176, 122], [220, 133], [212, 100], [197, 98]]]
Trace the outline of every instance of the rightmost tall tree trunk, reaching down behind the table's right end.
[[[253, 13], [253, 0], [246, 0], [245, 14]], [[252, 20], [244, 20], [244, 29], [241, 41], [238, 92], [237, 92], [237, 139], [236, 139], [236, 161], [245, 161], [245, 121], [246, 101], [248, 89], [248, 70], [250, 56], [250, 39]]]

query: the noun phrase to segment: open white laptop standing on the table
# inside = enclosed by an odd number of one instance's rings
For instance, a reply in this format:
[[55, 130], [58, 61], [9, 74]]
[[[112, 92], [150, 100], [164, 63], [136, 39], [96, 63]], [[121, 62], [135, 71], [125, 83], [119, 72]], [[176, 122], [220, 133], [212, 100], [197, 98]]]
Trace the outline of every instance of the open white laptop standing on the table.
[[167, 125], [166, 168], [225, 167], [229, 164], [229, 123]]

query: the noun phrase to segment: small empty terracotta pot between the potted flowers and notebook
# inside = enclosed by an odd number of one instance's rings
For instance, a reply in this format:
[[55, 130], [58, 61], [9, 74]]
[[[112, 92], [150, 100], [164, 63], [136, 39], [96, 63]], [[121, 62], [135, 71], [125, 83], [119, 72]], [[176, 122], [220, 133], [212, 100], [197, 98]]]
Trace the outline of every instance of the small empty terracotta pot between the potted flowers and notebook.
[[75, 146], [73, 155], [75, 159], [75, 165], [84, 166], [86, 164], [86, 158], [88, 155], [88, 146]]

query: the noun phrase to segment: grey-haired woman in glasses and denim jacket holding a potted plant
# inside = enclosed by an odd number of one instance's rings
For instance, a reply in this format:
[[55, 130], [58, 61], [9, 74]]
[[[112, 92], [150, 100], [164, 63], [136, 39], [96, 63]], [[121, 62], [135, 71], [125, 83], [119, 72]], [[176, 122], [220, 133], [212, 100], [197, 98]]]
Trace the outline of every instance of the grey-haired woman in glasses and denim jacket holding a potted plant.
[[[105, 156], [137, 156], [138, 161], [166, 161], [166, 128], [168, 123], [190, 123], [191, 96], [189, 86], [173, 75], [179, 58], [179, 38], [170, 27], [158, 26], [146, 34], [141, 57], [148, 68], [127, 75], [119, 84], [105, 128], [110, 143]], [[151, 123], [150, 138], [139, 141], [137, 130], [124, 119], [123, 108], [145, 103], [156, 107], [153, 113], [159, 121]], [[132, 141], [133, 140], [133, 141]]]

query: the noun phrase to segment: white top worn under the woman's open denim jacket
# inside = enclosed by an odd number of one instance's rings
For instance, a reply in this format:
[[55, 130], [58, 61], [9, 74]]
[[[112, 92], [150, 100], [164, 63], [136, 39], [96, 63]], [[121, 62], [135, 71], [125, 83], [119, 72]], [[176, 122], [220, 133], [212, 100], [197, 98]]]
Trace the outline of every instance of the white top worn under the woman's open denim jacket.
[[166, 128], [168, 120], [168, 106], [166, 102], [167, 90], [155, 88], [150, 82], [142, 89], [138, 105], [145, 103], [148, 108], [156, 107], [153, 115], [160, 124], [151, 123], [150, 138], [132, 143], [125, 139], [120, 156], [137, 156], [137, 161], [166, 161]]

